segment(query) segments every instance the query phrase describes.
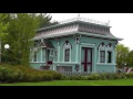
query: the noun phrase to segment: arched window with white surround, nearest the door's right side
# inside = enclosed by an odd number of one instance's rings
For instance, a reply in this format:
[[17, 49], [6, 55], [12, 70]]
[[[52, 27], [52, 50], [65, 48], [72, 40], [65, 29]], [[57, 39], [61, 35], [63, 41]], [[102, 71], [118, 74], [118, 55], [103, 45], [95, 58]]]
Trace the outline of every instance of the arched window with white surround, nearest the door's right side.
[[99, 46], [99, 63], [105, 63], [105, 45], [102, 43]]

